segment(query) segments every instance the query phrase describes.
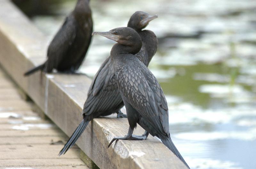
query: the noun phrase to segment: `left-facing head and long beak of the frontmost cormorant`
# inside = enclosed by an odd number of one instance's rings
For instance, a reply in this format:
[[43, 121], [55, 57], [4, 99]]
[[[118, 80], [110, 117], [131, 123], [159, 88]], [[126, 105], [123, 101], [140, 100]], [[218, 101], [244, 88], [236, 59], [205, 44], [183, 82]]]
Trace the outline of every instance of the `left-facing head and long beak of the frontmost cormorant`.
[[[136, 54], [140, 51], [142, 40], [140, 35], [132, 28], [120, 27], [108, 32], [92, 32], [92, 35], [104, 36], [121, 44], [119, 52]], [[117, 47], [117, 46], [116, 46]]]

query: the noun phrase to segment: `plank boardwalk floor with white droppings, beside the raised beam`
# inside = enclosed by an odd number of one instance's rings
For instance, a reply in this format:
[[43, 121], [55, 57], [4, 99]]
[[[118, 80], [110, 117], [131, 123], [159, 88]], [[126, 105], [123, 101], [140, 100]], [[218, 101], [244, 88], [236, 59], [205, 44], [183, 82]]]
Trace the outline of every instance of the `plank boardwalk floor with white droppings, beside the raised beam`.
[[32, 110], [0, 69], [0, 168], [85, 168], [76, 146], [58, 157], [67, 136]]

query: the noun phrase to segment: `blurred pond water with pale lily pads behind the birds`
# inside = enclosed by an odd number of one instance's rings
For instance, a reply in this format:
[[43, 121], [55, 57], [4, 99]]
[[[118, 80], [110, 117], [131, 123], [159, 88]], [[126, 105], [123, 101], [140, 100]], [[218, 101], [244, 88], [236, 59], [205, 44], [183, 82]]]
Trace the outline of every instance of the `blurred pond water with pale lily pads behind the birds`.
[[[33, 22], [50, 39], [75, 1]], [[94, 31], [127, 25], [134, 11], [158, 14], [149, 68], [170, 109], [173, 141], [191, 168], [256, 168], [256, 3], [254, 0], [95, 0]], [[93, 37], [80, 71], [93, 76], [113, 42]]]

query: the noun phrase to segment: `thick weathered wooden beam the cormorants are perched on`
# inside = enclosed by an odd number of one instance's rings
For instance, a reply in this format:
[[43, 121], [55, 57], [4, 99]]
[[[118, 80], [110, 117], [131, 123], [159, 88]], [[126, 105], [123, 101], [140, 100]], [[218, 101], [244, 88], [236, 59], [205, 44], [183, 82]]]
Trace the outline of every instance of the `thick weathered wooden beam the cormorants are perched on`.
[[[91, 79], [85, 75], [23, 73], [42, 63], [48, 42], [10, 1], [0, 1], [0, 64], [61, 130], [71, 136], [80, 123]], [[90, 57], [90, 56], [87, 56]], [[89, 123], [77, 145], [100, 168], [186, 168], [159, 140], [122, 140], [107, 148], [115, 136], [128, 131], [127, 119], [97, 118]], [[144, 130], [138, 126], [135, 134]], [[40, 139], [40, 138], [38, 138]], [[68, 163], [68, 161], [67, 161]]]

